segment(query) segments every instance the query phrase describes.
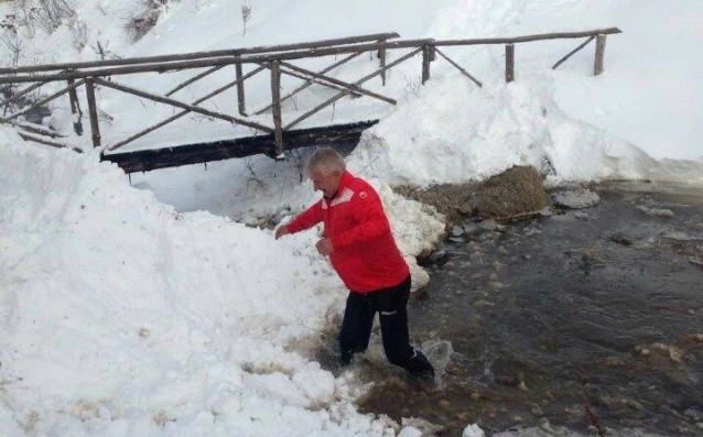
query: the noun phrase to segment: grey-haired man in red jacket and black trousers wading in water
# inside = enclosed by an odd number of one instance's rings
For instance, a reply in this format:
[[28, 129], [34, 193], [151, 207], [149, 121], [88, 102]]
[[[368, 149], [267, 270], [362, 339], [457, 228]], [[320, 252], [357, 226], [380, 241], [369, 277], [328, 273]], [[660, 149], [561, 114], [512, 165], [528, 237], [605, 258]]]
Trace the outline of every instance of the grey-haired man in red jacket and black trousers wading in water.
[[279, 227], [275, 239], [324, 222], [323, 237], [315, 247], [321, 255], [329, 255], [349, 288], [339, 331], [342, 364], [366, 350], [378, 312], [388, 360], [414, 375], [434, 376], [424, 354], [410, 346], [410, 269], [396, 245], [378, 194], [366, 181], [347, 172], [344, 159], [331, 148], [315, 151], [305, 171], [323, 197]]

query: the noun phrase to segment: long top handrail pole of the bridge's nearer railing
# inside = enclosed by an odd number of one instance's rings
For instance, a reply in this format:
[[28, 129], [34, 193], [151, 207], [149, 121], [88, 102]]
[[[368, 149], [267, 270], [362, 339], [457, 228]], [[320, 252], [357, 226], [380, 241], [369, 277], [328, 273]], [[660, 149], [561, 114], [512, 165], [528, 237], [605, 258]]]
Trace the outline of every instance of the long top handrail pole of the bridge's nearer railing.
[[251, 55], [251, 56], [241, 56], [241, 57], [223, 56], [217, 58], [206, 58], [206, 59], [195, 59], [195, 61], [180, 61], [180, 62], [161, 63], [161, 64], [120, 66], [115, 68], [98, 68], [93, 70], [65, 72], [65, 73], [58, 73], [58, 74], [52, 74], [52, 75], [3, 76], [3, 77], [0, 77], [0, 84], [20, 84], [20, 83], [37, 81], [37, 80], [55, 81], [55, 80], [66, 80], [68, 78], [85, 78], [89, 76], [102, 77], [102, 76], [112, 76], [112, 75], [148, 73], [148, 72], [166, 73], [166, 72], [185, 69], [185, 68], [203, 68], [203, 67], [214, 67], [218, 65], [234, 65], [238, 62], [261, 64], [261, 63], [267, 63], [271, 61], [291, 61], [291, 59], [301, 59], [304, 57], [322, 57], [322, 56], [329, 56], [329, 55], [339, 55], [344, 53], [369, 52], [369, 51], [379, 50], [381, 47], [386, 47], [386, 48], [419, 47], [431, 42], [433, 42], [433, 40], [426, 40], [426, 39], [425, 40], [407, 40], [407, 41], [393, 41], [393, 42], [386, 42], [386, 43], [313, 48], [313, 50], [305, 50], [305, 51], [298, 51], [298, 52], [275, 53], [270, 55]]

